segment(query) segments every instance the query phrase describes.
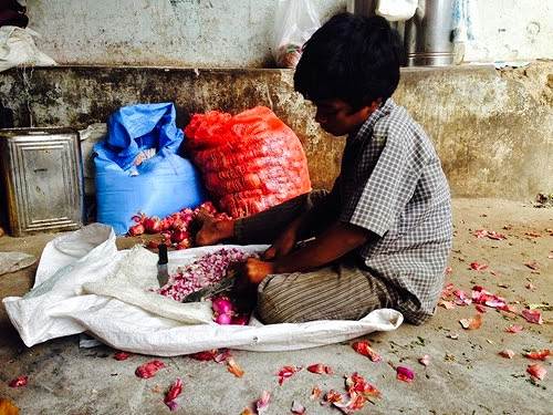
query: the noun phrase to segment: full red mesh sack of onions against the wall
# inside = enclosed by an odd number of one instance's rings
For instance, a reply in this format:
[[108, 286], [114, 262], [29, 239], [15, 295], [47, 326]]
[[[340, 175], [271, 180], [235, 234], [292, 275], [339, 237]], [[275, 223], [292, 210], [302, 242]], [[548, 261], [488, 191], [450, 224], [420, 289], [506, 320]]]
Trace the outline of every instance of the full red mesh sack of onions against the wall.
[[185, 134], [206, 188], [234, 218], [311, 190], [300, 139], [268, 107], [234, 116], [219, 111], [195, 114]]

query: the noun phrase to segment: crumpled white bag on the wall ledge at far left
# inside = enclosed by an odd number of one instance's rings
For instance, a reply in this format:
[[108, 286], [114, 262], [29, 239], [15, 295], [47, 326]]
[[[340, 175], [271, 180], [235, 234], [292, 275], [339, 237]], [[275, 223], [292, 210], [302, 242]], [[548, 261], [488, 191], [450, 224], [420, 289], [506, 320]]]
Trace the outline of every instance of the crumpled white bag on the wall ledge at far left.
[[0, 72], [10, 68], [53, 66], [55, 61], [41, 52], [34, 39], [40, 34], [29, 28], [3, 25], [0, 28]]

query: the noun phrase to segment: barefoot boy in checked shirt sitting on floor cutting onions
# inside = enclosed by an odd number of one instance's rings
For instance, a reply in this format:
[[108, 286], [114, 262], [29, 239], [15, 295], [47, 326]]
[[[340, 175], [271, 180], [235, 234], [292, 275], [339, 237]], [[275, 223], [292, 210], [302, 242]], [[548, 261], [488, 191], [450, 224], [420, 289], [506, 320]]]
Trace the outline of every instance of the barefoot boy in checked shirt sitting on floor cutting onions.
[[420, 324], [434, 313], [451, 247], [450, 195], [429, 138], [390, 98], [400, 56], [382, 18], [343, 13], [319, 29], [294, 87], [323, 129], [348, 135], [332, 191], [204, 221], [199, 245], [272, 243], [246, 266], [264, 323], [357, 320], [394, 308]]

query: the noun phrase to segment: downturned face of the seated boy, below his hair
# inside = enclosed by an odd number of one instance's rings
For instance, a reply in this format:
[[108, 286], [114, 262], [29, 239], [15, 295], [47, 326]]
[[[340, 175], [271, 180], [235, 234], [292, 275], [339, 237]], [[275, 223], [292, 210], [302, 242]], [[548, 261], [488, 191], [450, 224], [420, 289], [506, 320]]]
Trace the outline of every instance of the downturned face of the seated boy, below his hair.
[[314, 104], [316, 106], [315, 121], [321, 128], [335, 136], [356, 132], [377, 107], [373, 103], [372, 106], [354, 111], [348, 103], [340, 98], [322, 100]]

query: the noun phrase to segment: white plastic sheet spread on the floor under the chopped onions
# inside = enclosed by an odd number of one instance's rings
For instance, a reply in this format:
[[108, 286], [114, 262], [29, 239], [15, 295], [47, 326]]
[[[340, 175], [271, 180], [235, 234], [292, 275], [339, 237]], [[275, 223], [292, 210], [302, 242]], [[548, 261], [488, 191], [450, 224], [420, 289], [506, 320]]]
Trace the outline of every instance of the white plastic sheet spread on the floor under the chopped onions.
[[[220, 248], [171, 252], [169, 263], [185, 264]], [[247, 326], [201, 322], [209, 320], [205, 313], [209, 303], [148, 301], [150, 294], [155, 295], [146, 290], [155, 279], [153, 257], [143, 256], [144, 268], [138, 271], [133, 261], [140, 253], [144, 251], [138, 248], [117, 251], [112, 228], [100, 224], [51, 241], [43, 251], [33, 289], [22, 298], [2, 300], [23, 342], [31, 346], [87, 331], [113, 347], [159, 356], [218, 347], [286, 351], [342, 342], [373, 331], [392, 331], [403, 322], [403, 315], [389, 309], [373, 311], [359, 321], [263, 325], [253, 320]], [[117, 276], [125, 282], [117, 281]], [[199, 323], [184, 323], [187, 320]]]

